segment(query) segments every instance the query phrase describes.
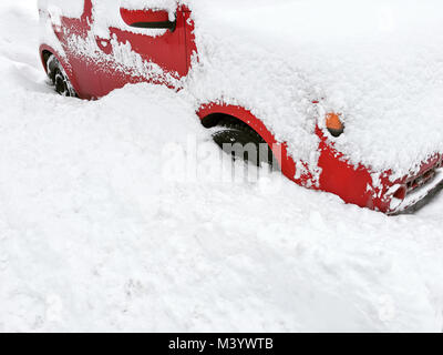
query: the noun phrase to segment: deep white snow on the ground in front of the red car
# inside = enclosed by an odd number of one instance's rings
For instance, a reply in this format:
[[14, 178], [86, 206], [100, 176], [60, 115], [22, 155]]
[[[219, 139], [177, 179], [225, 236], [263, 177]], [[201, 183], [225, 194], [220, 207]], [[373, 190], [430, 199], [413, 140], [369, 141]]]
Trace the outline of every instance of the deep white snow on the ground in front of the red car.
[[[3, 0], [0, 30], [0, 331], [443, 329], [443, 195], [388, 217], [276, 173], [217, 181], [185, 98], [60, 98], [34, 2]], [[168, 176], [195, 141], [215, 158]]]

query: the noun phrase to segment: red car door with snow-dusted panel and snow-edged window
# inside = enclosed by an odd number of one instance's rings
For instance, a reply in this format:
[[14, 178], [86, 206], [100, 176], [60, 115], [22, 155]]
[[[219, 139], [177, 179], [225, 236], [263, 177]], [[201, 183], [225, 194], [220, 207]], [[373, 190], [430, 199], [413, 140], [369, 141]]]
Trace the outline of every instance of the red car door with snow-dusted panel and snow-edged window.
[[109, 27], [107, 36], [96, 39], [100, 50], [112, 61], [111, 70], [101, 70], [102, 93], [137, 82], [177, 88], [190, 65], [189, 11], [184, 7], [176, 11], [148, 8], [115, 8], [115, 11], [120, 24]]

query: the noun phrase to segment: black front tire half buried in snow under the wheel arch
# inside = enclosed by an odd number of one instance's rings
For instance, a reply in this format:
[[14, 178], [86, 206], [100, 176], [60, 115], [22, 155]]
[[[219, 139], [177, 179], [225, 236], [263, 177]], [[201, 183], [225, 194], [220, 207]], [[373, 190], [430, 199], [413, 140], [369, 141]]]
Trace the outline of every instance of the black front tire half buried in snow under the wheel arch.
[[261, 166], [262, 163], [277, 166], [274, 153], [266, 141], [249, 125], [235, 118], [222, 118], [213, 140], [234, 160], [243, 159], [257, 166]]

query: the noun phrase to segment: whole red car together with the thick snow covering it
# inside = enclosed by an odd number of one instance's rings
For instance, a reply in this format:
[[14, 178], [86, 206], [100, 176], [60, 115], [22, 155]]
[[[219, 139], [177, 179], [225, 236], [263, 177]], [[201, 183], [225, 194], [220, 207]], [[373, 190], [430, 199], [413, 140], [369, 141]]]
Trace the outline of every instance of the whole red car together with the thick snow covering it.
[[61, 94], [167, 85], [220, 145], [266, 142], [296, 183], [396, 213], [443, 181], [433, 2], [39, 0], [40, 54]]

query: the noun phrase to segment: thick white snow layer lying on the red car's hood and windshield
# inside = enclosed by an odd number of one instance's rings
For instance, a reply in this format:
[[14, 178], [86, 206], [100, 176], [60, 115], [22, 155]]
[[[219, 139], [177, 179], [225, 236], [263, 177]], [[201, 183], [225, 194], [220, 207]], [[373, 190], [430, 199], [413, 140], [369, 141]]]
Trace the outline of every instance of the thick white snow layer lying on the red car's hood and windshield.
[[[443, 152], [441, 1], [181, 2], [196, 24], [199, 64], [185, 83], [196, 108], [222, 98], [250, 109], [311, 166], [317, 118], [329, 111], [343, 114], [336, 146], [353, 163], [402, 175]], [[175, 0], [113, 3], [176, 7]], [[106, 11], [110, 23], [117, 13], [111, 1]]]

